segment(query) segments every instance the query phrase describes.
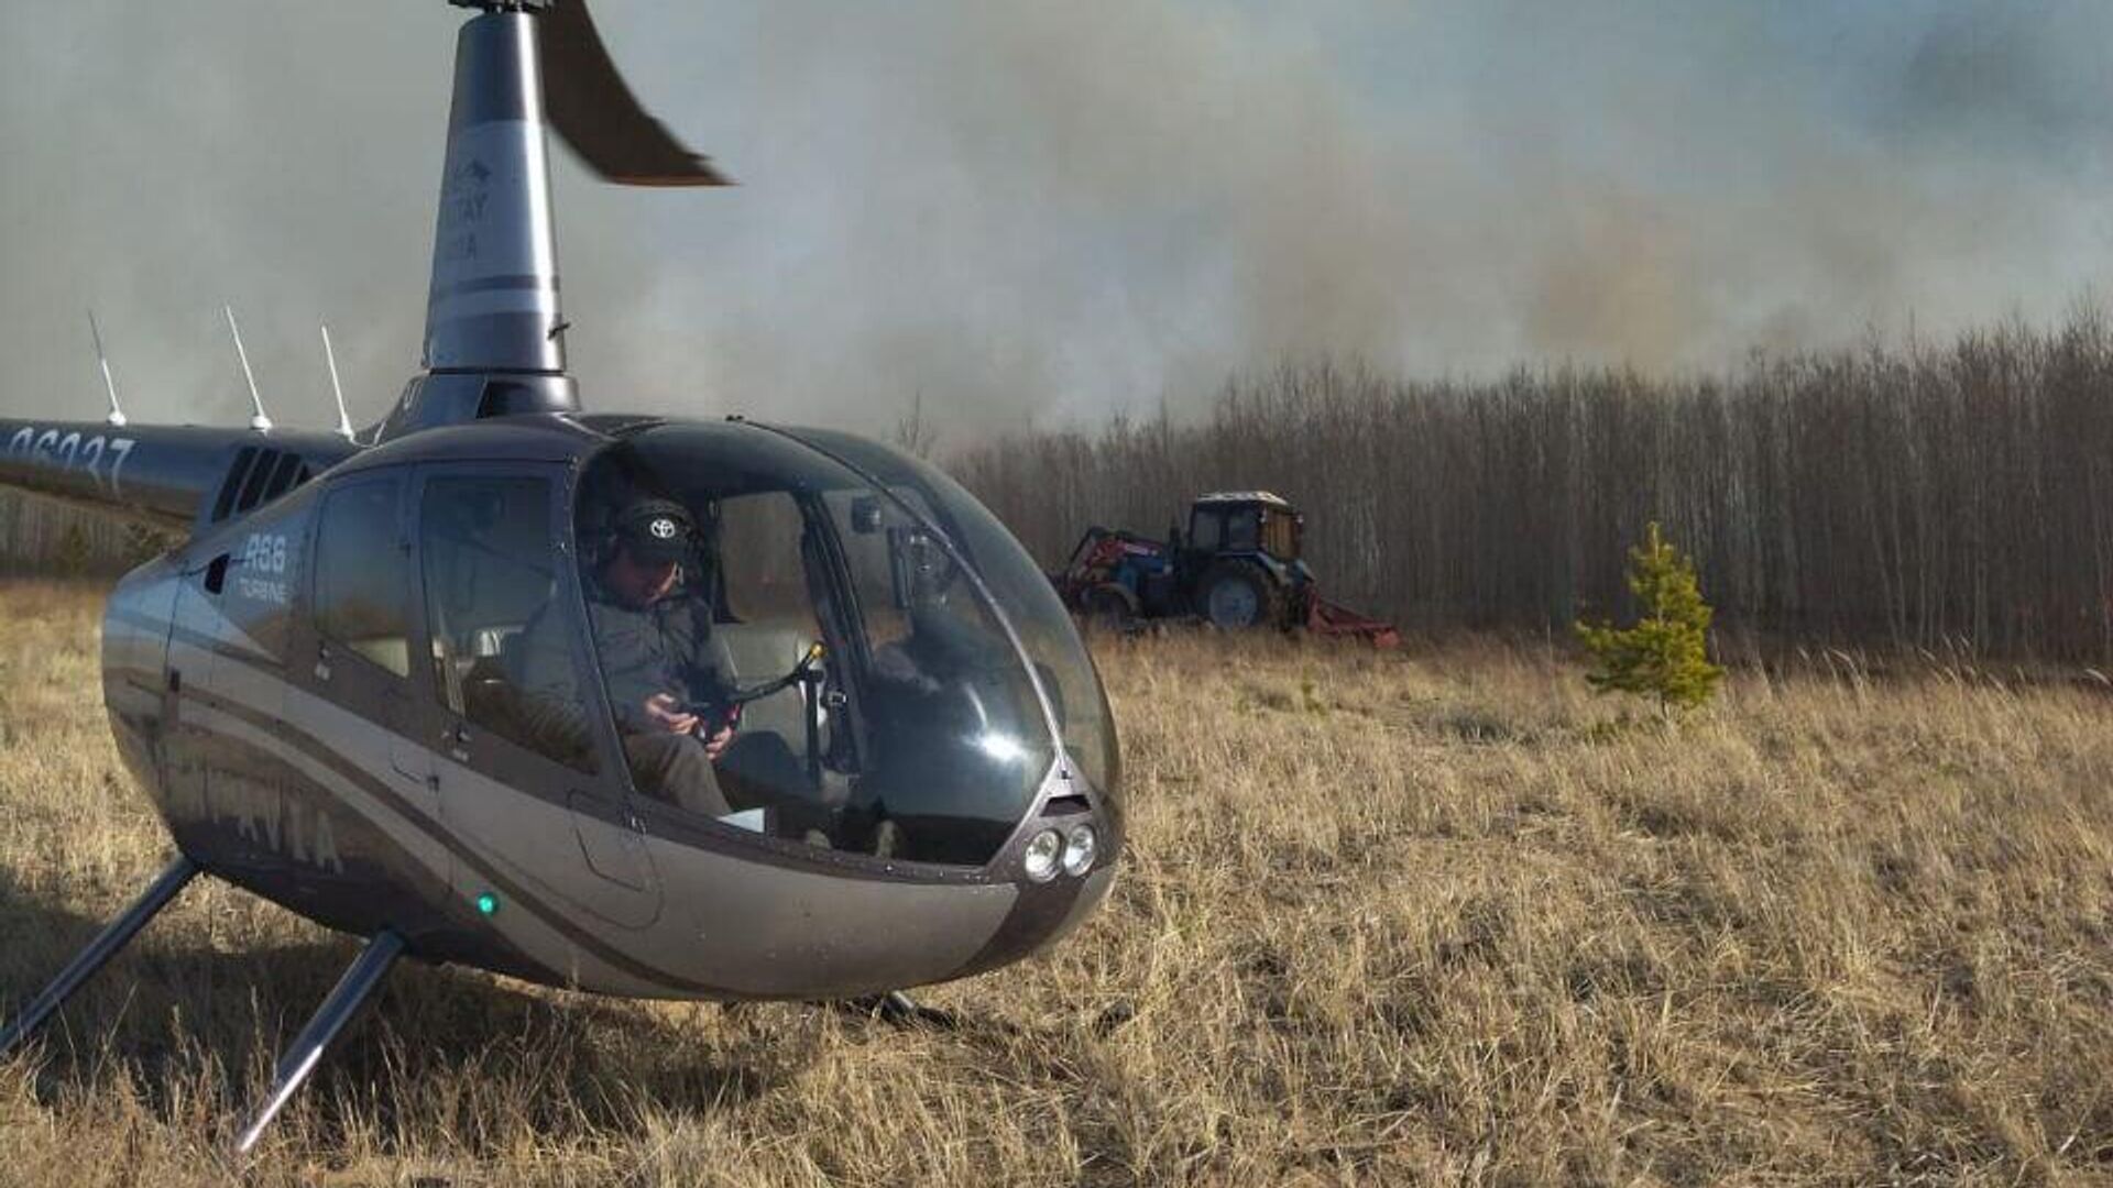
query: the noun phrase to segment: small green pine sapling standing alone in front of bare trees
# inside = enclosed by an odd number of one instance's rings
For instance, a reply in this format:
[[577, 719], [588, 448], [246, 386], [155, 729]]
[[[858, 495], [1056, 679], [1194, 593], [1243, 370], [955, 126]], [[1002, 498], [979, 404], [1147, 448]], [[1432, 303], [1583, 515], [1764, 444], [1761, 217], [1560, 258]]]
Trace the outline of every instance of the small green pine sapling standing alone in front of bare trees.
[[1709, 664], [1709, 602], [1695, 581], [1695, 562], [1659, 535], [1657, 522], [1629, 550], [1629, 590], [1642, 607], [1633, 628], [1576, 624], [1595, 662], [1585, 681], [1602, 693], [1657, 698], [1661, 717], [1707, 702], [1724, 679]]

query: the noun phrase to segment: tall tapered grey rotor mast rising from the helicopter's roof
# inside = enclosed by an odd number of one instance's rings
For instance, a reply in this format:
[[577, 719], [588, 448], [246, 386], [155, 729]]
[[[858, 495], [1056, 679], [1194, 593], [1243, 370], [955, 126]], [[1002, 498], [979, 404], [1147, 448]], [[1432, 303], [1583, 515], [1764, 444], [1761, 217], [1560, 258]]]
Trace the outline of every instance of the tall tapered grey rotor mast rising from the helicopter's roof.
[[494, 6], [456, 38], [425, 307], [431, 372], [564, 372], [537, 21]]

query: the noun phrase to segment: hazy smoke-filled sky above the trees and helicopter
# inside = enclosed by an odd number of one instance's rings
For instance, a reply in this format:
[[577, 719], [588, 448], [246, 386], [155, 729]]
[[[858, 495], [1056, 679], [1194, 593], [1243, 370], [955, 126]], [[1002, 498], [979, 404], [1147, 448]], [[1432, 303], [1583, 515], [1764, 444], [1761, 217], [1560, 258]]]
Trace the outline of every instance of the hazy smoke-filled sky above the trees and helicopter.
[[[735, 190], [558, 156], [594, 408], [978, 429], [1359, 355], [1722, 368], [2113, 264], [2113, 6], [606, 0]], [[355, 421], [418, 359], [440, 0], [0, 4], [0, 410]]]

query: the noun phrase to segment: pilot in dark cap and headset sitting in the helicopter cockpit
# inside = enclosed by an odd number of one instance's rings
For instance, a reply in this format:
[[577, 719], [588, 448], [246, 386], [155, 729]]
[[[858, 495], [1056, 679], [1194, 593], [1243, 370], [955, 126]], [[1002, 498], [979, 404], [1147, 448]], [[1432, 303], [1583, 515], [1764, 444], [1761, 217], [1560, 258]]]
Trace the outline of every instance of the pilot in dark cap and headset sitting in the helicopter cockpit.
[[[706, 571], [710, 560], [710, 541], [687, 507], [632, 499], [611, 524], [585, 594], [587, 632], [632, 780], [649, 795], [718, 818], [733, 810], [712, 765], [733, 742], [733, 723], [716, 719], [712, 700], [731, 687], [731, 664], [712, 634], [708, 579], [685, 575], [685, 562]], [[535, 672], [524, 672], [522, 683], [545, 685]]]

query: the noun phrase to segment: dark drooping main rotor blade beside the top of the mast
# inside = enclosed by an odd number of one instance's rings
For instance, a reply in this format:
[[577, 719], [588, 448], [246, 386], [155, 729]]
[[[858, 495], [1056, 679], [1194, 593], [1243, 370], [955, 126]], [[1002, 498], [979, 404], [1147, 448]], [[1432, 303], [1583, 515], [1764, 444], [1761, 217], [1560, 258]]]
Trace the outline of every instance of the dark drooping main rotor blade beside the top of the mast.
[[590, 169], [628, 186], [731, 186], [712, 159], [691, 152], [623, 85], [585, 0], [558, 0], [537, 27], [543, 110]]

